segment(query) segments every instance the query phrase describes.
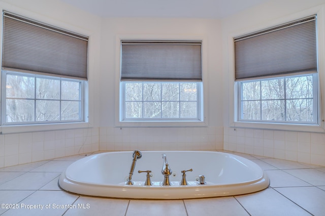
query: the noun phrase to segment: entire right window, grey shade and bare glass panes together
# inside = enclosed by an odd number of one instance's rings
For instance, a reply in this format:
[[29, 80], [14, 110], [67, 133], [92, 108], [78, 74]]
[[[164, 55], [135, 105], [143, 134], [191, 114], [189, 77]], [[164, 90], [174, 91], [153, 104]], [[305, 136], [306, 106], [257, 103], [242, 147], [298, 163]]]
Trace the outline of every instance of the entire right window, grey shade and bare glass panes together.
[[234, 41], [237, 121], [319, 123], [316, 16]]

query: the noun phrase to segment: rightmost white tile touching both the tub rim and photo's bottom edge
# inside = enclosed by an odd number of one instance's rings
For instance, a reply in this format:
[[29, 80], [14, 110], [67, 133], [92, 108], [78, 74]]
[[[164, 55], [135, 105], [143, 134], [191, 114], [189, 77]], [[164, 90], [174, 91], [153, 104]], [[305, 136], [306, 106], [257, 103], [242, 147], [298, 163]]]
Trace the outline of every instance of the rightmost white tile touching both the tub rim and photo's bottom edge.
[[235, 198], [251, 215], [310, 215], [271, 188], [253, 194], [236, 196]]

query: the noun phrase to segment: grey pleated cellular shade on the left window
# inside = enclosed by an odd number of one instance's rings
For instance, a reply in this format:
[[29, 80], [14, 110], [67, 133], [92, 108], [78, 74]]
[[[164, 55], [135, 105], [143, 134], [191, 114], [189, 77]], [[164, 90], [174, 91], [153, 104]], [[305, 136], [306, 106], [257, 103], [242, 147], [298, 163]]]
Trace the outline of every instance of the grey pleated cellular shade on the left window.
[[3, 68], [87, 79], [88, 37], [4, 12]]

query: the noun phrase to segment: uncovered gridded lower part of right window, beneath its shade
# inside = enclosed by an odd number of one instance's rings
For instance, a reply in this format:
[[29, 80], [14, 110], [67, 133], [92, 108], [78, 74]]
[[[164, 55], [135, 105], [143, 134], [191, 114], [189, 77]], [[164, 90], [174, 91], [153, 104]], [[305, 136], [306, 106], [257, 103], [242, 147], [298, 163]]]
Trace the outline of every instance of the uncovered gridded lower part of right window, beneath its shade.
[[317, 73], [239, 81], [239, 121], [318, 124]]

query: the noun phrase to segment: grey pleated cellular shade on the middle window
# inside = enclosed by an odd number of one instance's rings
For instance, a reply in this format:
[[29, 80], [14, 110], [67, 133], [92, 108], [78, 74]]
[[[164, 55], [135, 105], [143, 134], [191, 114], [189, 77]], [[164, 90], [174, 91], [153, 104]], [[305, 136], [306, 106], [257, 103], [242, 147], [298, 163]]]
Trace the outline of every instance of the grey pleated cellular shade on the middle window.
[[121, 41], [121, 80], [202, 81], [201, 41]]

